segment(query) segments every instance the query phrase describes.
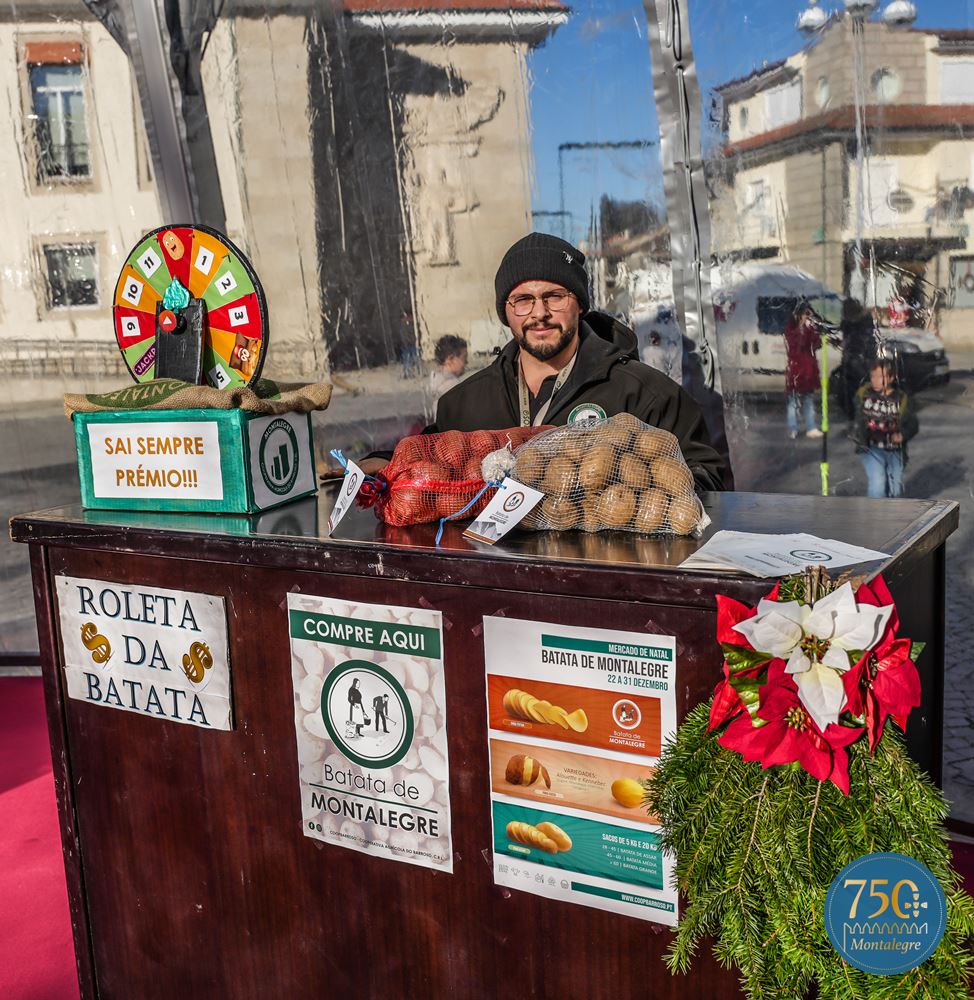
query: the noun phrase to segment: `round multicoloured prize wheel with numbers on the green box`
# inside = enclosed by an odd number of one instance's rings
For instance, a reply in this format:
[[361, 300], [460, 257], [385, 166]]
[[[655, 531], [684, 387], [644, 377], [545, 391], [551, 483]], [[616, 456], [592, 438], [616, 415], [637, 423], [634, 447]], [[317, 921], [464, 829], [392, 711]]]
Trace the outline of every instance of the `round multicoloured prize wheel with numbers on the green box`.
[[181, 307], [196, 301], [203, 306], [204, 382], [231, 389], [259, 377], [267, 300], [250, 261], [215, 229], [162, 226], [139, 240], [115, 285], [115, 337], [136, 382], [156, 377], [157, 323], [178, 322]]

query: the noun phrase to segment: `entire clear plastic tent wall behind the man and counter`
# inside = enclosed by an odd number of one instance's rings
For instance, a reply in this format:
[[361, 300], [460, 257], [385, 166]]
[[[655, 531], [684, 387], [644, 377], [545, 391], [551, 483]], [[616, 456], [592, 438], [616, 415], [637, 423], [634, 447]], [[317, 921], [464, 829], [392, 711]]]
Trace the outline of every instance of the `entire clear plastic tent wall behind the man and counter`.
[[[723, 418], [739, 489], [865, 494], [870, 469], [897, 488], [849, 440], [880, 358], [919, 415], [904, 494], [966, 512], [974, 22], [893, 6], [0, 0], [4, 516], [77, 500], [61, 395], [128, 382], [115, 280], [180, 222], [253, 262], [265, 374], [335, 384], [322, 467], [417, 432], [490, 362], [510, 336], [495, 270], [536, 229], [582, 249], [597, 307]], [[0, 653], [36, 650], [26, 553], [0, 542], [0, 573]], [[969, 782], [962, 752], [949, 781]]]

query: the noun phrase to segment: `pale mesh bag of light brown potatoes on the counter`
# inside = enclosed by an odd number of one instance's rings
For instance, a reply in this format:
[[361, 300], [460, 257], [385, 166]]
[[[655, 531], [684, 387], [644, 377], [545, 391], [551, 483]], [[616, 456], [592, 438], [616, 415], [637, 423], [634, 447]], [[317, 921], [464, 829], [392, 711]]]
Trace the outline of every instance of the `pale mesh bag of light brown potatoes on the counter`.
[[545, 493], [526, 528], [699, 536], [709, 524], [676, 437], [631, 414], [556, 427], [514, 458], [512, 478]]

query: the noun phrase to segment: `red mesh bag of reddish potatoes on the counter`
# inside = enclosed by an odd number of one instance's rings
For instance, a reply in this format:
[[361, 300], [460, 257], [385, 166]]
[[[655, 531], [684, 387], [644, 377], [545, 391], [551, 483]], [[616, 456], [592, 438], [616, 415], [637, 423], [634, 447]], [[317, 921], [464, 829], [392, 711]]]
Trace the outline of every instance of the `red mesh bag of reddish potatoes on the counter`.
[[[547, 427], [502, 431], [444, 431], [416, 434], [396, 445], [389, 464], [366, 481], [359, 504], [395, 527], [454, 517], [484, 488], [483, 460], [501, 448], [513, 449]], [[464, 513], [476, 517], [494, 495], [488, 489]]]

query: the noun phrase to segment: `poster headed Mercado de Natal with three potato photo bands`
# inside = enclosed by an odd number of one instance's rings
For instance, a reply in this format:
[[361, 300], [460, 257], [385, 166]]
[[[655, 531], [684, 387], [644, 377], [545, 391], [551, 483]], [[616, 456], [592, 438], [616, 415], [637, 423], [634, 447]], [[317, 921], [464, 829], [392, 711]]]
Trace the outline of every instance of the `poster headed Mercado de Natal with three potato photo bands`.
[[494, 881], [675, 926], [644, 782], [676, 731], [676, 638], [484, 618]]

